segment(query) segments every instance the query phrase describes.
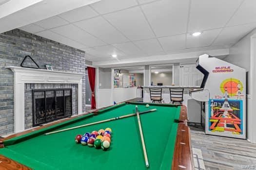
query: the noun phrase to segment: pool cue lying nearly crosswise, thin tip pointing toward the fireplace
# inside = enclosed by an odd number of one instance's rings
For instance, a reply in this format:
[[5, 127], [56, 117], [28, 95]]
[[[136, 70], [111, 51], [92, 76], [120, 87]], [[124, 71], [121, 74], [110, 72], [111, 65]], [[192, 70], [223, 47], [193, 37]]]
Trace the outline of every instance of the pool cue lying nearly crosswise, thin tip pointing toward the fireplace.
[[[144, 112], [140, 112], [139, 114], [155, 112], [155, 111], [157, 111], [157, 109], [150, 109], [150, 110], [147, 110], [147, 111], [144, 111]], [[124, 116], [119, 116], [119, 117], [115, 117], [115, 118], [100, 120], [100, 121], [96, 121], [96, 122], [93, 122], [93, 123], [88, 123], [88, 124], [83, 124], [83, 125], [79, 125], [79, 126], [75, 126], [75, 127], [71, 127], [71, 128], [67, 128], [67, 129], [61, 129], [61, 130], [58, 130], [58, 131], [48, 132], [48, 133], [45, 133], [44, 135], [56, 134], [56, 133], [59, 133], [59, 132], [64, 132], [64, 131], [77, 129], [77, 128], [81, 128], [81, 127], [85, 127], [85, 126], [90, 126], [90, 125], [94, 125], [94, 124], [98, 124], [98, 123], [103, 123], [103, 122], [107, 122], [107, 121], [128, 118], [128, 117], [131, 117], [131, 116], [135, 116], [136, 114], [137, 113], [132, 113], [132, 114], [129, 114], [129, 115], [124, 115]]]

